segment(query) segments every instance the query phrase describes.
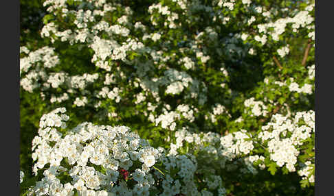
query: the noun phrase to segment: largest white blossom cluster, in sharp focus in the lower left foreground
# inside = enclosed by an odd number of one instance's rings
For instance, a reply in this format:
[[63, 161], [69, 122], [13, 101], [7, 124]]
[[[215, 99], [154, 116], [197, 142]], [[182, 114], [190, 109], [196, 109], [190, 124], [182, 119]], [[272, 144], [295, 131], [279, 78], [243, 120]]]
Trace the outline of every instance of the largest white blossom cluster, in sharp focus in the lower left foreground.
[[[56, 127], [65, 127], [68, 116], [64, 112], [65, 108], [59, 108], [41, 118], [41, 128], [32, 142], [32, 158], [35, 174], [43, 169], [45, 177], [36, 182], [33, 193], [71, 195], [76, 190], [80, 194], [133, 191], [148, 195], [155, 182], [150, 171], [161, 152], [124, 126], [81, 123], [63, 135]], [[63, 182], [64, 175], [71, 180]], [[124, 184], [127, 177], [135, 182], [133, 189]]]

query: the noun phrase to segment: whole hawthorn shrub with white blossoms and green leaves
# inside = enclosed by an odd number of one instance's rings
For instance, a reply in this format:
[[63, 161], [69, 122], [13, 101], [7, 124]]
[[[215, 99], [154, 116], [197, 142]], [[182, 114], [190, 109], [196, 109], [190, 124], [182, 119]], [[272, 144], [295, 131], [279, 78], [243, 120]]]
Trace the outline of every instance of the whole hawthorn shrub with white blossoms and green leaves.
[[314, 1], [31, 2], [21, 195], [314, 194]]

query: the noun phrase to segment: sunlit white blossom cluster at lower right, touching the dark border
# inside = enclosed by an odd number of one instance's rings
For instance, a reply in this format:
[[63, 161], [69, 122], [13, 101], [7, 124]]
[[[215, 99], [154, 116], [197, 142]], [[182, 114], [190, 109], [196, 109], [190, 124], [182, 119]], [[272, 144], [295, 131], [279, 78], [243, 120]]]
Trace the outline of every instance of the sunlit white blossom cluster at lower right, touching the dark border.
[[[301, 125], [302, 123], [303, 125]], [[296, 171], [301, 147], [314, 132], [314, 112], [297, 112], [293, 119], [282, 114], [275, 114], [271, 122], [262, 127], [258, 138], [268, 147], [270, 159], [279, 167], [286, 167], [289, 171]]]

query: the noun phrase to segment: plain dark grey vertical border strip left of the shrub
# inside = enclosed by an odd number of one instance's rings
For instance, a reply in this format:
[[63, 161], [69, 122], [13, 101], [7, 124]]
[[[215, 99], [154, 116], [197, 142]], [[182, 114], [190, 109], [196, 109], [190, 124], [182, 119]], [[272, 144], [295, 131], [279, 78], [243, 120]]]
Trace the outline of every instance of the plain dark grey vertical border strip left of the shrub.
[[1, 195], [19, 195], [19, 45], [20, 6], [19, 0], [1, 2], [1, 134], [2, 175]]

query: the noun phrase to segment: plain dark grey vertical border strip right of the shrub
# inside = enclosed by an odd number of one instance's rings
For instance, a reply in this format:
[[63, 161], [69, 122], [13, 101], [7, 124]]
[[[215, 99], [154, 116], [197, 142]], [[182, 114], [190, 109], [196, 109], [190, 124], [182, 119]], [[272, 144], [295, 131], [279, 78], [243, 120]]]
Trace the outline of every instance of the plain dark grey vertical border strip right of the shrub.
[[[328, 5], [326, 5], [326, 4]], [[315, 0], [315, 195], [333, 195], [333, 1]], [[327, 58], [327, 59], [326, 59]], [[330, 135], [331, 134], [331, 135]], [[326, 192], [328, 192], [326, 194]]]

